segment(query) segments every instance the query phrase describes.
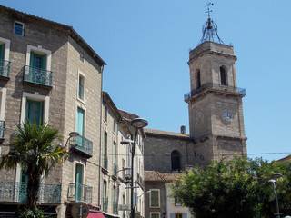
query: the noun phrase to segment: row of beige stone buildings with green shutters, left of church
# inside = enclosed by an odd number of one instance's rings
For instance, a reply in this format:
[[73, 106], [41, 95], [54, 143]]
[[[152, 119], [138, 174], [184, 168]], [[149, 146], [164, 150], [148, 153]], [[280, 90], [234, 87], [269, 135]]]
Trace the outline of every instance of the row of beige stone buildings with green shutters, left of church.
[[[130, 146], [120, 142], [133, 138], [130, 122], [138, 116], [118, 110], [103, 92], [105, 61], [71, 26], [2, 5], [0, 18], [0, 154], [8, 153], [15, 124], [47, 122], [59, 130], [68, 158], [42, 178], [38, 203], [45, 213], [72, 217], [73, 205], [84, 202], [101, 217], [128, 216], [121, 207], [130, 203]], [[140, 129], [134, 202], [141, 216], [145, 137]], [[0, 171], [0, 215], [13, 216], [25, 204], [26, 185], [20, 166]]]

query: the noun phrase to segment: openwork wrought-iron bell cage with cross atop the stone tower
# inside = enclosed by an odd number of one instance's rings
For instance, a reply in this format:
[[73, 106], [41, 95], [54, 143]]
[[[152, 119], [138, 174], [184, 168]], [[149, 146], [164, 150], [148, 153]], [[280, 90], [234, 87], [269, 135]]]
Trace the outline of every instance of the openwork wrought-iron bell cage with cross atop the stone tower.
[[212, 12], [212, 10], [210, 10], [210, 6], [213, 6], [214, 4], [208, 1], [206, 5], [208, 19], [206, 20], [206, 24], [202, 27], [202, 38], [199, 42], [199, 45], [207, 41], [223, 44], [223, 41], [220, 39], [217, 33], [217, 25], [210, 17], [210, 13]]

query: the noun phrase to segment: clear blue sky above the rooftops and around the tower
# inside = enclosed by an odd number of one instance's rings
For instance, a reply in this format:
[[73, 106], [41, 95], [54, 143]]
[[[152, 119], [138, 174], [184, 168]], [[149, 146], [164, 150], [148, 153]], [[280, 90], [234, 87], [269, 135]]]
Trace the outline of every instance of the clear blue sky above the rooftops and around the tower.
[[[214, 0], [212, 18], [235, 47], [249, 157], [291, 154], [290, 0]], [[32, 15], [72, 25], [107, 63], [104, 90], [149, 128], [189, 130], [189, 49], [206, 21], [206, 0], [0, 0]], [[265, 154], [268, 153], [268, 154]], [[273, 154], [286, 153], [286, 154]], [[256, 154], [256, 155], [254, 155]]]

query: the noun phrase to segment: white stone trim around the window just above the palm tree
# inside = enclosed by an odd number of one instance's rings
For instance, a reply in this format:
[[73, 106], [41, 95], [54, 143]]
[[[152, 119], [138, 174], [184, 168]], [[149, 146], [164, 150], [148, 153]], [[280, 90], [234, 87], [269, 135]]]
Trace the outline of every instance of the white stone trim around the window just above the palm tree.
[[48, 111], [49, 111], [49, 96], [40, 95], [35, 92], [35, 94], [31, 93], [23, 93], [22, 94], [22, 104], [21, 104], [21, 114], [20, 114], [20, 124], [25, 123], [25, 108], [26, 108], [26, 99], [31, 99], [35, 101], [42, 101], [44, 103], [44, 121], [48, 123]]

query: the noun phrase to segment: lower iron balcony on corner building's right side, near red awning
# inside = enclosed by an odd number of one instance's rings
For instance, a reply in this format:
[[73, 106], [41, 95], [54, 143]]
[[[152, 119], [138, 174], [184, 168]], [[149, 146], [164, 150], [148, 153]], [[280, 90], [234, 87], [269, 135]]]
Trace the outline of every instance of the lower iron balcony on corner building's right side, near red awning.
[[92, 203], [92, 187], [81, 183], [69, 183], [68, 200]]

